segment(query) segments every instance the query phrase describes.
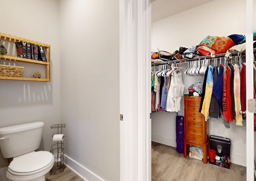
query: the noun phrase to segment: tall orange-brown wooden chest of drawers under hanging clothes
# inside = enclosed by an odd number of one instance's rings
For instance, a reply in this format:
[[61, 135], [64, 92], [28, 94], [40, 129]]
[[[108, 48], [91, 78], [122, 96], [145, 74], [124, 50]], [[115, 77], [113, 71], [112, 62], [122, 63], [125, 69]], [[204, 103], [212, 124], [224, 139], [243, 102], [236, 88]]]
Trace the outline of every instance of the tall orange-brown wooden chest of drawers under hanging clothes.
[[207, 163], [207, 122], [199, 112], [201, 97], [184, 97], [184, 157], [190, 145], [204, 148], [204, 163]]

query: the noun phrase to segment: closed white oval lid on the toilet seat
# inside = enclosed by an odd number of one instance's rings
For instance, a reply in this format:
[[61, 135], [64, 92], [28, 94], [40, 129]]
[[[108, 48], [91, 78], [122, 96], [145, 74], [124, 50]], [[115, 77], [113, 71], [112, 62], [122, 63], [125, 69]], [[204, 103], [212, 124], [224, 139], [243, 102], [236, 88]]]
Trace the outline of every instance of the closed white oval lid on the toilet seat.
[[15, 157], [8, 168], [19, 173], [26, 173], [42, 169], [51, 163], [53, 155], [49, 151], [33, 151]]

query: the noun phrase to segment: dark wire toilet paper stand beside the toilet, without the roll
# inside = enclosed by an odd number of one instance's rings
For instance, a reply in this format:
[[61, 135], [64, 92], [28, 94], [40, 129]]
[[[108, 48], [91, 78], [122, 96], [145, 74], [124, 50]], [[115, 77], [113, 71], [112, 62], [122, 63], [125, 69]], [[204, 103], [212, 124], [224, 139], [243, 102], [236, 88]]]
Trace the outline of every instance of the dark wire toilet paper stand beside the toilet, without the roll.
[[[66, 124], [53, 124], [50, 126], [51, 129], [57, 129], [57, 132], [52, 134], [52, 138], [55, 134], [62, 134], [62, 128], [65, 128]], [[54, 165], [50, 170], [50, 175], [57, 175], [58, 173], [63, 173], [64, 171], [64, 143], [58, 141], [56, 144], [51, 146], [50, 152], [54, 155]]]

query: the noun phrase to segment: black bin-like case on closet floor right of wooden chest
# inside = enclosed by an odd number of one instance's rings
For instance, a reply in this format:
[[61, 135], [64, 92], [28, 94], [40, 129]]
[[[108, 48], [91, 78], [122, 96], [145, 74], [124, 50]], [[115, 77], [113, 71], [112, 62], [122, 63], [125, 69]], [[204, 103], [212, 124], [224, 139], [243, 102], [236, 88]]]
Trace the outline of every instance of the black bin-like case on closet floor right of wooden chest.
[[229, 138], [210, 135], [209, 140], [209, 147], [216, 151], [216, 155], [220, 157], [227, 155], [230, 157], [231, 141]]

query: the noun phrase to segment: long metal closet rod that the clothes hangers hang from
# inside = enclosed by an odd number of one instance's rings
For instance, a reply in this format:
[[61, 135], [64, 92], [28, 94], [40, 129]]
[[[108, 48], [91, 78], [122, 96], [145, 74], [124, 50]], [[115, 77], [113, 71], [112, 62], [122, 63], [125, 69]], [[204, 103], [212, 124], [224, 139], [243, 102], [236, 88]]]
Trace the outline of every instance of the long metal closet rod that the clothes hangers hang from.
[[[256, 48], [253, 49], [253, 52], [256, 53]], [[242, 51], [240, 54], [245, 55], [245, 51]], [[224, 57], [225, 55], [226, 55], [226, 53], [220, 53], [220, 54], [216, 54], [215, 57], [211, 57], [210, 55], [206, 55], [206, 56], [201, 56], [201, 57], [195, 57], [195, 58], [192, 58], [192, 59], [169, 60], [169, 61], [164, 61], [164, 62], [151, 63], [151, 66], [153, 66], [153, 65], [163, 65], [163, 64], [172, 64], [172, 63], [188, 63], [190, 61], [204, 59], [204, 58], [206, 58], [206, 59], [215, 59], [215, 58]], [[238, 55], [238, 52], [231, 52], [231, 55], [236, 56], [236, 55]]]

